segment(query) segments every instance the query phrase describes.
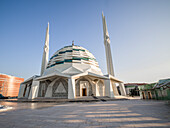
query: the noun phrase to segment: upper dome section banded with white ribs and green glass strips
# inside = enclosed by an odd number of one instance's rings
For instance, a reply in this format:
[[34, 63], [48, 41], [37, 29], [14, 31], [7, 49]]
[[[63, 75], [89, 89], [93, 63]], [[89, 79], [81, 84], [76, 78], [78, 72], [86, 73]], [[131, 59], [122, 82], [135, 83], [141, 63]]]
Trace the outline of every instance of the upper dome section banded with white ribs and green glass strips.
[[99, 67], [93, 54], [91, 54], [87, 49], [75, 45], [65, 46], [54, 53], [54, 55], [50, 58], [47, 68], [65, 63], [90, 64]]

